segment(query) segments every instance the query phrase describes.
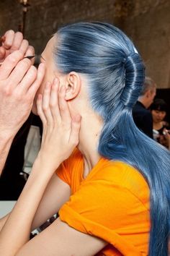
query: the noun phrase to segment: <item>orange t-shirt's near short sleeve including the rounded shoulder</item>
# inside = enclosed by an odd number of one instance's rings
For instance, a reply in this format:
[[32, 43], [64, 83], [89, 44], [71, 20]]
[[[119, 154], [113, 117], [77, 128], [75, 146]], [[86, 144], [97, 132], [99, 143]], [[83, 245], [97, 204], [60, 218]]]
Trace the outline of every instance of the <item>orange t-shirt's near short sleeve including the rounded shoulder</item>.
[[146, 211], [145, 205], [126, 187], [94, 180], [82, 182], [59, 216], [73, 229], [104, 239], [122, 255], [138, 256], [143, 254], [135, 242], [125, 237], [148, 229]]

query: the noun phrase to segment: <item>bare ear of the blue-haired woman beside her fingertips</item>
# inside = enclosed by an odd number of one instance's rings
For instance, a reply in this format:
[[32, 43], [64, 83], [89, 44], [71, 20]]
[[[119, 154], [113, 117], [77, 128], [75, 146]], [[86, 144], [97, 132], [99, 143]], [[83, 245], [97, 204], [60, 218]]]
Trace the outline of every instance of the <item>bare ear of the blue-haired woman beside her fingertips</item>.
[[81, 77], [76, 72], [70, 72], [66, 79], [66, 101], [76, 98], [81, 88]]

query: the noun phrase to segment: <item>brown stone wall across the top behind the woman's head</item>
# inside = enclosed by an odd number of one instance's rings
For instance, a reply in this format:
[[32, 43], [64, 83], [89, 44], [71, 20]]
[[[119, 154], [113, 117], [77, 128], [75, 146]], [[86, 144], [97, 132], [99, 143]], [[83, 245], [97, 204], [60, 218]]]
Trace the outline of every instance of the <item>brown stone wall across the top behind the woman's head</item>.
[[[30, 0], [25, 37], [37, 54], [63, 24], [82, 20], [111, 22], [127, 33], [143, 56], [146, 74], [158, 88], [170, 88], [169, 0]], [[22, 24], [19, 0], [0, 1], [0, 33]]]

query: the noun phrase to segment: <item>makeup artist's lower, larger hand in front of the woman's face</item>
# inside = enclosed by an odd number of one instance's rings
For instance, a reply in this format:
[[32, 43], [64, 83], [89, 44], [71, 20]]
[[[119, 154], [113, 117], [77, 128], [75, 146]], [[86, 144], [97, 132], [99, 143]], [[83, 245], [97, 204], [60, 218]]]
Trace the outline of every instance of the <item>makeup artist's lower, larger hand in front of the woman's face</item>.
[[0, 136], [14, 136], [30, 114], [45, 67], [38, 70], [22, 51], [14, 51], [0, 67]]

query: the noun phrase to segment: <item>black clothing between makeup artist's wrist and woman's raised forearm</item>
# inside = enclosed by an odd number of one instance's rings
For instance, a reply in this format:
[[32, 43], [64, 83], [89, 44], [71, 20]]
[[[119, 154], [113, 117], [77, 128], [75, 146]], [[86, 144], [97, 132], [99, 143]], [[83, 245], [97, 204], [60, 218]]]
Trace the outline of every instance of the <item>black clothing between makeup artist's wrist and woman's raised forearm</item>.
[[4, 170], [0, 177], [0, 200], [17, 200], [26, 180], [20, 173], [23, 171], [24, 146], [30, 129], [32, 115], [14, 137]]

